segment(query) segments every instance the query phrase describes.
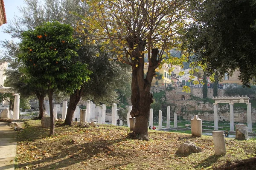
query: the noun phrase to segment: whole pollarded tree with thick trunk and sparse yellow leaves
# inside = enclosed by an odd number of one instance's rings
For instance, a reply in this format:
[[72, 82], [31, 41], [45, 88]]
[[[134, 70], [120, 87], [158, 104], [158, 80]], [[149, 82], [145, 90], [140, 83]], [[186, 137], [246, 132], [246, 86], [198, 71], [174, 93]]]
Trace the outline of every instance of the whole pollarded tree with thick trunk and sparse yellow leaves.
[[[90, 6], [84, 22], [96, 32], [93, 40], [112, 45], [116, 59], [132, 67], [132, 111], [136, 117], [133, 139], [148, 140], [148, 117], [153, 102], [151, 82], [165, 62], [182, 65], [186, 57], [173, 57], [179, 35], [189, 25], [189, 0], [87, 0]], [[193, 1], [195, 2], [195, 1]], [[92, 41], [93, 41], [92, 40]], [[144, 78], [145, 58], [148, 70]], [[169, 70], [169, 73], [172, 69]], [[186, 88], [186, 87], [184, 87]]]

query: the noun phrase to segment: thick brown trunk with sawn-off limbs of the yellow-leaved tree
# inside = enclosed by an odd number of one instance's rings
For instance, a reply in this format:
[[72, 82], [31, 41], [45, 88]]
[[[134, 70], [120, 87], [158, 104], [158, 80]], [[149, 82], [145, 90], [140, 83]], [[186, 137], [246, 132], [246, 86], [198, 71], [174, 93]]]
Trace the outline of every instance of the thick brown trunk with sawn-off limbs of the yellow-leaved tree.
[[[131, 43], [130, 43], [131, 44]], [[135, 43], [136, 44], [136, 43]], [[132, 47], [132, 46], [131, 46]], [[145, 41], [138, 42], [138, 48], [133, 53], [133, 57], [137, 59], [132, 65], [132, 82], [131, 82], [131, 117], [136, 117], [134, 131], [128, 134], [129, 138], [148, 140], [148, 118], [150, 105], [153, 102], [153, 95], [150, 93], [151, 82], [157, 68], [158, 49], [152, 49], [151, 62], [148, 65], [147, 76], [144, 79], [144, 51]]]

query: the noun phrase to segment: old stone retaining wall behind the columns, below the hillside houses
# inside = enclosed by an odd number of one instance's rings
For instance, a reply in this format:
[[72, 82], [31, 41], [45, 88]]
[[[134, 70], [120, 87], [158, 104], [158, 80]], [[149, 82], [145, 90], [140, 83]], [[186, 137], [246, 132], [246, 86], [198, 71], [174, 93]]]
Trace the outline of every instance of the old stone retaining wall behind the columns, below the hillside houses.
[[[151, 92], [156, 93], [166, 88], [151, 88]], [[208, 88], [208, 98], [211, 99], [213, 89]], [[214, 121], [213, 104], [193, 99], [192, 96], [203, 98], [202, 88], [191, 88], [190, 93], [182, 92], [182, 88], [175, 88], [166, 91], [166, 103], [171, 106], [170, 116], [174, 113], [184, 113], [183, 119], [190, 120], [194, 115], [198, 115], [203, 121]], [[218, 96], [224, 96], [224, 90], [218, 89]], [[246, 105], [246, 104], [244, 104]], [[256, 123], [256, 108], [252, 108], [252, 122]], [[164, 115], [165, 113], [163, 113]], [[218, 120], [230, 121], [229, 105], [218, 106]], [[247, 123], [247, 109], [234, 107], [234, 122]]]

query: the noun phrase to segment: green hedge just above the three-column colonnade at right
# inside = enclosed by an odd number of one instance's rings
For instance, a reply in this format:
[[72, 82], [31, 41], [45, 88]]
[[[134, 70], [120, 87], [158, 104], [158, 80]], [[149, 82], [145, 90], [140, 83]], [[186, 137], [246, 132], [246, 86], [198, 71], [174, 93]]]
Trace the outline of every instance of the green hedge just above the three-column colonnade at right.
[[229, 86], [224, 90], [224, 95], [227, 96], [252, 96], [256, 92], [256, 87], [251, 86]]

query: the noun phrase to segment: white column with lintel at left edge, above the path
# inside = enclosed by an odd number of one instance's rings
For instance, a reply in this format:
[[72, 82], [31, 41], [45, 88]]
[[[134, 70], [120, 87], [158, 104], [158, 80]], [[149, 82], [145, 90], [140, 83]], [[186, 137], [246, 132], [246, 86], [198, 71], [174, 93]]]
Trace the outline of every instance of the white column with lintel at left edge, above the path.
[[13, 88], [9, 87], [0, 87], [0, 93], [11, 93], [14, 97], [14, 106], [13, 106], [13, 119], [19, 119], [20, 117], [20, 94], [16, 94]]

